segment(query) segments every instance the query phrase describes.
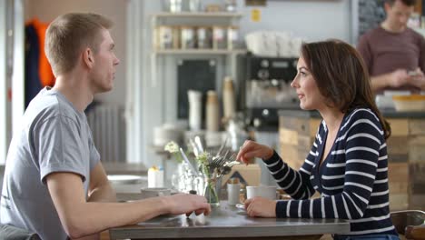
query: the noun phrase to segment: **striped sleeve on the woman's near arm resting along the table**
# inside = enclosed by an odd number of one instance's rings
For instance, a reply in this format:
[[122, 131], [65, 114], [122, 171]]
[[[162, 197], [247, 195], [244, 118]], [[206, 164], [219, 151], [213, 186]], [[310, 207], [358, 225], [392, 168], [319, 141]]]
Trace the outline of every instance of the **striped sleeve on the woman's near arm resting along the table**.
[[336, 139], [344, 141], [344, 147], [331, 152], [346, 159], [341, 193], [311, 200], [278, 201], [277, 217], [359, 219], [364, 215], [375, 183], [380, 148], [385, 143], [381, 140], [381, 124], [371, 112], [354, 113], [349, 122], [350, 125], [341, 126], [340, 131], [345, 134]]

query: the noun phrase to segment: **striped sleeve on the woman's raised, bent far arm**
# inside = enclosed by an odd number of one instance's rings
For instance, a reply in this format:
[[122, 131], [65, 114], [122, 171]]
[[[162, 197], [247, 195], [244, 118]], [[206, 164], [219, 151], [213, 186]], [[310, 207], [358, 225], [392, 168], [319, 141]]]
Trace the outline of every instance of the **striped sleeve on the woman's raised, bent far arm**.
[[270, 159], [263, 160], [277, 184], [293, 199], [308, 199], [315, 192], [310, 179], [312, 177], [311, 170], [314, 165], [314, 158], [317, 156], [317, 145], [320, 141], [321, 137], [318, 134], [314, 144], [311, 146], [309, 155], [307, 155], [299, 171], [295, 171], [284, 163], [276, 152], [273, 153]]

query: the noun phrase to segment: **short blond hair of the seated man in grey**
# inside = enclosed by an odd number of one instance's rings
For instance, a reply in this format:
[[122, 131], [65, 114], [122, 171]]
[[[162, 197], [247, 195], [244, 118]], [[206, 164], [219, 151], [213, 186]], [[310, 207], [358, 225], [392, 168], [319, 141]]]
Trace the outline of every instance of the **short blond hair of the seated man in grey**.
[[97, 14], [72, 13], [54, 19], [47, 28], [44, 45], [54, 75], [70, 72], [86, 47], [96, 53], [102, 40], [101, 30], [112, 25], [111, 20]]

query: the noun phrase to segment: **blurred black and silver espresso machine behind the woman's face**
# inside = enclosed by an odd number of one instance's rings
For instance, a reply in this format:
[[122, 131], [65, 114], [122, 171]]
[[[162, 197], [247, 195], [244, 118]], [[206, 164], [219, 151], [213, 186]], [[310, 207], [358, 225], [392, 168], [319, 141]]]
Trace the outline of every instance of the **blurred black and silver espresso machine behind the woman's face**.
[[277, 132], [278, 111], [300, 109], [296, 91], [291, 87], [297, 75], [297, 61], [298, 58], [239, 56], [239, 107], [256, 130]]

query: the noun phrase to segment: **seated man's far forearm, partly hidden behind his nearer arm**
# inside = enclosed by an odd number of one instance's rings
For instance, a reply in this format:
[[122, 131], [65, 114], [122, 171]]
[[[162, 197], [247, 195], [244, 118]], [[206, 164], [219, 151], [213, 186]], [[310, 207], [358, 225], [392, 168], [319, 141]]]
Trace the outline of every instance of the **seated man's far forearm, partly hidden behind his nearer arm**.
[[101, 162], [90, 173], [89, 196], [87, 202], [116, 202], [116, 194], [108, 181]]

